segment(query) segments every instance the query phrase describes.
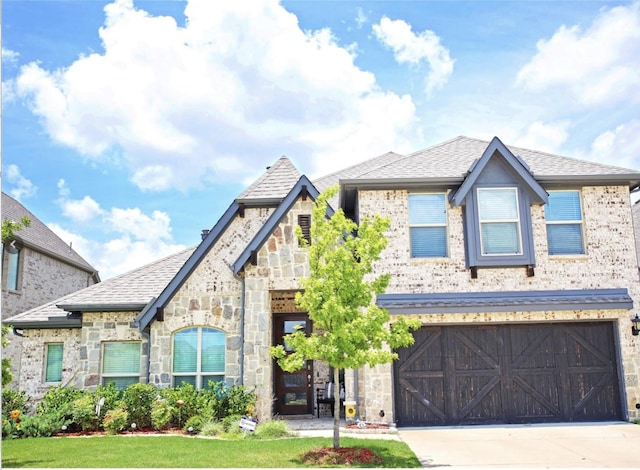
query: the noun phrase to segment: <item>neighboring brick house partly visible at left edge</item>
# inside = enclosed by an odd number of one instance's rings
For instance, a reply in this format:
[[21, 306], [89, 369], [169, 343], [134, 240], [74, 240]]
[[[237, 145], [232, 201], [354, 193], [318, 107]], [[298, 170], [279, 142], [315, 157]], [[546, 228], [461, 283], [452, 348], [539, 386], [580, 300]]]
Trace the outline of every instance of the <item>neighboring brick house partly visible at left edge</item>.
[[[2, 246], [2, 319], [100, 282], [98, 272], [35, 215], [2, 193], [2, 220], [31, 221]], [[10, 323], [10, 322], [9, 322]], [[20, 382], [20, 337], [3, 349], [11, 358], [12, 385]]]

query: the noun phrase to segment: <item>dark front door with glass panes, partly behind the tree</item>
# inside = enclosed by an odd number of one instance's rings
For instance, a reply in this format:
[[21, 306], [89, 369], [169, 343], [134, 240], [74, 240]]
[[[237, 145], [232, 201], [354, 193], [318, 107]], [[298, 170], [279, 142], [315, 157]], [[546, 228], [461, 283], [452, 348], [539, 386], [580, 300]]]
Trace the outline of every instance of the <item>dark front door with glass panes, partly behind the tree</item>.
[[[273, 319], [273, 344], [284, 344], [283, 337], [296, 331], [296, 327], [302, 331], [311, 331], [309, 317], [304, 314], [278, 314]], [[286, 345], [285, 349], [287, 348]], [[280, 415], [311, 414], [313, 404], [313, 389], [311, 379], [313, 377], [312, 362], [308, 361], [306, 367], [296, 372], [283, 371], [274, 361], [275, 379], [275, 411]]]

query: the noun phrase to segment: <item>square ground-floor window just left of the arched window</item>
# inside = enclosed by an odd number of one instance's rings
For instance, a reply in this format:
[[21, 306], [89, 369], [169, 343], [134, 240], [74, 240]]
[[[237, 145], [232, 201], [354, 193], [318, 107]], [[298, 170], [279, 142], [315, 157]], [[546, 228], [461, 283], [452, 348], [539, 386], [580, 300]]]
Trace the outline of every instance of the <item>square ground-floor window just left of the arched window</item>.
[[108, 342], [102, 345], [102, 385], [113, 383], [117, 390], [140, 382], [140, 343]]

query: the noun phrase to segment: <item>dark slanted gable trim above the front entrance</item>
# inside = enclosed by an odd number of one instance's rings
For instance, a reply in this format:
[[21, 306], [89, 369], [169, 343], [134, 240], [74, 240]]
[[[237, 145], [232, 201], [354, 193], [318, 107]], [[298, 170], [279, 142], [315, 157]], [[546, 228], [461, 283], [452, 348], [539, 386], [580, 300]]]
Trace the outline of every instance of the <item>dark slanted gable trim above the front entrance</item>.
[[[287, 194], [287, 196], [283, 199], [282, 203], [278, 206], [274, 213], [271, 214], [269, 219], [258, 231], [253, 240], [251, 240], [251, 243], [249, 243], [249, 245], [240, 254], [236, 262], [233, 263], [233, 273], [237, 275], [244, 269], [244, 266], [251, 258], [251, 255], [253, 253], [256, 253], [262, 247], [262, 245], [265, 244], [271, 233], [273, 233], [276, 226], [282, 220], [282, 217], [284, 217], [287, 212], [289, 212], [291, 206], [293, 206], [293, 204], [300, 196], [309, 196], [315, 200], [317, 199], [319, 194], [319, 191], [311, 183], [311, 181], [309, 181], [306, 176], [301, 176], [295, 186], [291, 189], [291, 191], [289, 191], [289, 194]], [[332, 215], [333, 209], [330, 206], [327, 206], [327, 216], [331, 217]]]

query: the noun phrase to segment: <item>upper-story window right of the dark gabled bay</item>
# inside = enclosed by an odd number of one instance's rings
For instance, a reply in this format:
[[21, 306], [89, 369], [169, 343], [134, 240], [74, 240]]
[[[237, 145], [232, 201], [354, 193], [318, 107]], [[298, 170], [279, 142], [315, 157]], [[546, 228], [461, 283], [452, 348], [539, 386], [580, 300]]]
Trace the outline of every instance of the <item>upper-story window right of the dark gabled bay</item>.
[[584, 254], [580, 191], [549, 191], [544, 215], [550, 255]]

